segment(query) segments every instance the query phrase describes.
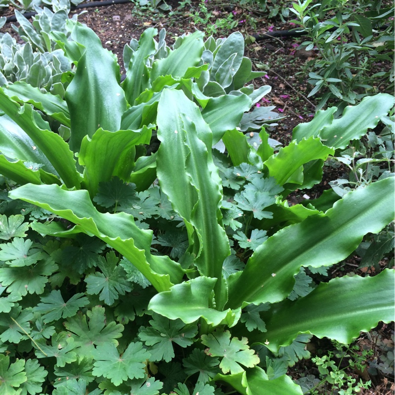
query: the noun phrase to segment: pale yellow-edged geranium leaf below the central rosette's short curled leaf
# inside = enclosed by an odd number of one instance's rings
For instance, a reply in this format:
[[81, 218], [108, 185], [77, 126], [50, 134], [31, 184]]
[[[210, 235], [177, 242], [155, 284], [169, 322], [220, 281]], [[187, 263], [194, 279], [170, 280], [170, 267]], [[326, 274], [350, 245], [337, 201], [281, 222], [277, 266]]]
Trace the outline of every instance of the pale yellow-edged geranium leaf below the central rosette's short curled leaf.
[[202, 335], [201, 342], [208, 347], [204, 351], [207, 355], [222, 357], [219, 367], [224, 373], [240, 373], [244, 371], [240, 365], [253, 367], [259, 363], [259, 357], [254, 355], [255, 351], [247, 346], [247, 338], [231, 339], [229, 330], [225, 332], [217, 330], [214, 333]]

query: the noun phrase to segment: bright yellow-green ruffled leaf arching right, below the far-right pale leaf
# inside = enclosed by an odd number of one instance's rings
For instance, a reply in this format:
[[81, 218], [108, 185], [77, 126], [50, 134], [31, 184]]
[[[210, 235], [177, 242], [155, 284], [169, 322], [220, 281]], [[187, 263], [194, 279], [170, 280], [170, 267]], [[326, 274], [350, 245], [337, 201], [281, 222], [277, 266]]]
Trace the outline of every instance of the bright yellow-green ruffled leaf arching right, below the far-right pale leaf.
[[269, 175], [276, 178], [277, 184], [302, 184], [301, 166], [311, 160], [328, 158], [335, 150], [324, 146], [318, 138], [310, 137], [299, 143], [293, 140], [288, 146], [279, 150], [278, 154], [265, 161]]

